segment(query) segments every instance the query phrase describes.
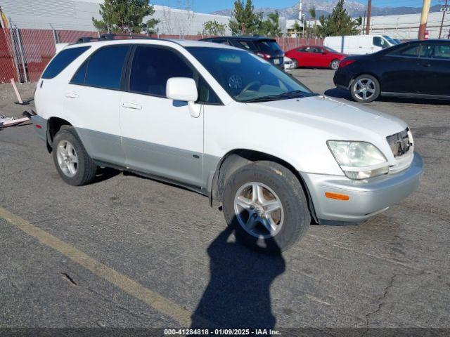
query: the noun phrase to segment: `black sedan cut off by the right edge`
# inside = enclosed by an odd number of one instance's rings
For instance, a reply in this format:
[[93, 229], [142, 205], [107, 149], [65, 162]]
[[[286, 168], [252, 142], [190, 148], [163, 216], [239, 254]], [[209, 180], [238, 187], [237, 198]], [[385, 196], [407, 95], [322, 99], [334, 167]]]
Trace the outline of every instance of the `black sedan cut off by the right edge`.
[[411, 41], [349, 56], [335, 72], [334, 83], [363, 103], [380, 95], [450, 99], [450, 41]]

